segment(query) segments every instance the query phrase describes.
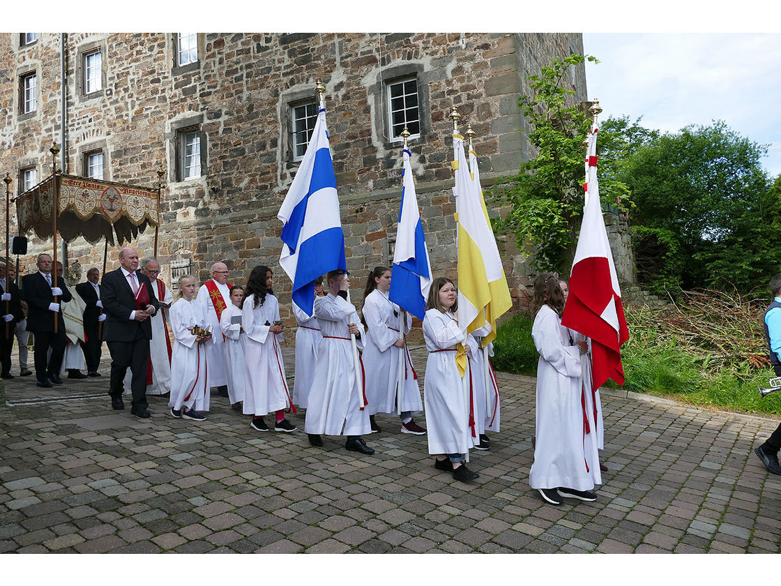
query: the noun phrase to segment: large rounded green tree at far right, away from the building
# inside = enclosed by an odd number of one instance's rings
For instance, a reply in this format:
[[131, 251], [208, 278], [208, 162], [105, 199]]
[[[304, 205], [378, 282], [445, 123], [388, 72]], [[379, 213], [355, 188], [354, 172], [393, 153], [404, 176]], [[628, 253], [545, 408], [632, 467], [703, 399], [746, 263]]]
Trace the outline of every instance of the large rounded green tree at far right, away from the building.
[[636, 205], [632, 225], [677, 239], [680, 272], [672, 280], [683, 288], [751, 288], [778, 266], [779, 188], [769, 190], [765, 152], [715, 121], [658, 136], [619, 167]]

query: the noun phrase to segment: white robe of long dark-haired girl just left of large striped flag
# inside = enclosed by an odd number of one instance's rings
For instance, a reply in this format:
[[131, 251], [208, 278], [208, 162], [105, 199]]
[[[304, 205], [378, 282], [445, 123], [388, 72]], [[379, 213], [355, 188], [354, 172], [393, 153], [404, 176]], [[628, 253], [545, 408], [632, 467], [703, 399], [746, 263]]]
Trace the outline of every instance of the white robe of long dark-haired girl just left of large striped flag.
[[[266, 301], [255, 307], [255, 295], [244, 298], [241, 323], [247, 334], [244, 364], [244, 415], [264, 416], [272, 411], [287, 409], [285, 367], [280, 341], [282, 334], [272, 334], [269, 329], [280, 319], [280, 303], [271, 293]], [[266, 325], [268, 324], [268, 325]]]

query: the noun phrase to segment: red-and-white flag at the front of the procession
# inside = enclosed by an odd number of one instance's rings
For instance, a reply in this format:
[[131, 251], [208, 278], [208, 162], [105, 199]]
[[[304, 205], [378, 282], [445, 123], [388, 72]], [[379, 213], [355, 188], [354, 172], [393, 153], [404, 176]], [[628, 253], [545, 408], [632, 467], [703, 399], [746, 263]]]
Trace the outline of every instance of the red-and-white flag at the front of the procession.
[[597, 389], [608, 378], [624, 384], [621, 345], [629, 330], [599, 200], [596, 123], [588, 138], [586, 169], [586, 205], [562, 325], [591, 338], [592, 388]]

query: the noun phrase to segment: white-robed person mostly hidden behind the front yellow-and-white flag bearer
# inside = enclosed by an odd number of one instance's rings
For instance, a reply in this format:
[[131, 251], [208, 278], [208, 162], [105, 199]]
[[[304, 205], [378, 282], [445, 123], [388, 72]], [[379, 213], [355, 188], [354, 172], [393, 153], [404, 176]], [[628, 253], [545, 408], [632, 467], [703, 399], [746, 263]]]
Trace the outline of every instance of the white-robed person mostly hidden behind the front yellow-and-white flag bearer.
[[[494, 377], [490, 362], [485, 361], [494, 356], [494, 343], [490, 342], [483, 348], [483, 337], [490, 333], [490, 326], [485, 325], [469, 334], [467, 357], [469, 358], [469, 374], [472, 377], [473, 414], [475, 433], [477, 434], [475, 449], [490, 449], [490, 438], [486, 431], [499, 431], [500, 409], [499, 388]], [[486, 381], [485, 367], [488, 366]]]

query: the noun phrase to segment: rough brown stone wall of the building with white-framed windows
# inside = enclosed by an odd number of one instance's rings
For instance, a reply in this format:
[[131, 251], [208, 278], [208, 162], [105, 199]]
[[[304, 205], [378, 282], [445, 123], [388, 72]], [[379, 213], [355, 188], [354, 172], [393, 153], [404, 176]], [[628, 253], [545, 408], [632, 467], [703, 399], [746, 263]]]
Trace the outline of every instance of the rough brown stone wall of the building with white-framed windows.
[[[62, 84], [59, 34], [41, 34], [20, 47], [19, 34], [0, 35], [0, 170], [18, 190], [18, 170], [51, 173], [52, 141], [61, 144]], [[84, 95], [84, 51], [103, 52], [103, 89]], [[105, 178], [154, 187], [155, 170], [166, 170], [158, 256], [162, 278], [173, 262], [191, 260], [205, 280], [224, 261], [230, 280], [244, 282], [264, 263], [276, 275], [276, 291], [290, 317], [291, 283], [278, 266], [280, 221], [276, 213], [298, 163], [291, 160], [291, 103], [312, 95], [316, 78], [326, 85], [326, 118], [341, 201], [348, 269], [360, 298], [366, 271], [391, 262], [401, 195], [401, 143], [388, 138], [383, 84], [403, 75], [418, 80], [421, 136], [410, 141], [412, 168], [422, 207], [433, 273], [455, 277], [455, 201], [452, 187], [452, 123], [471, 123], [486, 184], [512, 175], [532, 155], [518, 96], [526, 77], [554, 55], [583, 52], [580, 34], [199, 34], [199, 60], [174, 66], [171, 34], [66, 35], [66, 163], [85, 174], [84, 152], [102, 148]], [[19, 77], [37, 71], [37, 113], [20, 115]], [[585, 100], [583, 67], [570, 80]], [[177, 129], [198, 127], [206, 141], [205, 171], [177, 180]], [[12, 230], [12, 234], [14, 231]], [[151, 255], [153, 230], [131, 243]], [[23, 259], [50, 243], [33, 239]], [[101, 266], [102, 242], [81, 238], [69, 259], [85, 270]], [[109, 249], [107, 270], [116, 268]], [[505, 273], [516, 301], [528, 269], [505, 247]], [[359, 291], [360, 290], [360, 291]]]

